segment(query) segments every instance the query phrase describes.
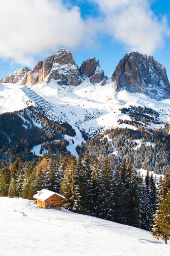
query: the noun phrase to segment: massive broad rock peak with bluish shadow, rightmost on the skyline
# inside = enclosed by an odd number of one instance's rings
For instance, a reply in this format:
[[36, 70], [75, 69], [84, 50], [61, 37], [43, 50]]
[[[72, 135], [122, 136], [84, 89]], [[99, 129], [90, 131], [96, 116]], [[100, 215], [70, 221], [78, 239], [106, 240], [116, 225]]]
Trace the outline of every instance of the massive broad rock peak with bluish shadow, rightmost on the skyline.
[[116, 91], [144, 93], [152, 99], [170, 98], [170, 82], [165, 67], [153, 56], [130, 52], [119, 61], [112, 75]]

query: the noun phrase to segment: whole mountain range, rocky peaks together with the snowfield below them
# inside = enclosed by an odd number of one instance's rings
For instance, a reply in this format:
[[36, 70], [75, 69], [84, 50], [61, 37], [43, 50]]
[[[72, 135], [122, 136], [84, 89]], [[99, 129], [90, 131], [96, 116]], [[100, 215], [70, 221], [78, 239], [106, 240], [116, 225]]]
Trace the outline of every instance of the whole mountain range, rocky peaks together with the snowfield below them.
[[1, 80], [0, 113], [36, 106], [48, 119], [68, 122], [76, 135], [65, 137], [67, 149], [78, 157], [83, 133], [94, 138], [108, 128], [153, 131], [170, 123], [169, 85], [165, 68], [150, 55], [125, 55], [109, 79], [94, 57], [78, 69], [71, 53], [60, 49], [32, 71], [23, 68]]

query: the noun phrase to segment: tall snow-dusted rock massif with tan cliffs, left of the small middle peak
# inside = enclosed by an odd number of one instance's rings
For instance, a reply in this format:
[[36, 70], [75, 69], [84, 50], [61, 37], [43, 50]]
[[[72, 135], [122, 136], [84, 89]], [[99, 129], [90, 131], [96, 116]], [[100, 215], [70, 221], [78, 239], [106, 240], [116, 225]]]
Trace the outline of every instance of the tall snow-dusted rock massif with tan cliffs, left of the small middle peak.
[[47, 82], [55, 79], [61, 85], [76, 86], [82, 82], [78, 66], [67, 49], [60, 49], [57, 54], [45, 59], [39, 71], [38, 82], [44, 81], [46, 77]]

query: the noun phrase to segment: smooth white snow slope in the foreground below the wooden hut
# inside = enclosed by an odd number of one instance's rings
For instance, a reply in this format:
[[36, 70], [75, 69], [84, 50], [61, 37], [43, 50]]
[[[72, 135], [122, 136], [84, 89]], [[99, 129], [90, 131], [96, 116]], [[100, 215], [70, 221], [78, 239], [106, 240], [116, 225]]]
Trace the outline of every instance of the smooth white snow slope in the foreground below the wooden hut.
[[[134, 227], [0, 197], [0, 256], [168, 256], [170, 243]], [[25, 215], [23, 217], [23, 214]], [[24, 218], [24, 219], [23, 219]], [[88, 231], [89, 225], [89, 231]]]

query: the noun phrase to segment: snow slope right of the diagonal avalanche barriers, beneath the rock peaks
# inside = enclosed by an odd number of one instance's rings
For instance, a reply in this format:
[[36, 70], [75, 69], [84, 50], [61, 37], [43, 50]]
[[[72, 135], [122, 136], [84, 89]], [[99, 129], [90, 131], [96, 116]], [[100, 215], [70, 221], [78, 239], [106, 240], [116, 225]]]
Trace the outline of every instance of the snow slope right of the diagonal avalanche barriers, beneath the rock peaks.
[[[55, 80], [49, 84], [36, 84], [32, 87], [37, 94], [51, 101], [54, 106], [66, 114], [70, 124], [74, 124], [89, 135], [92, 132], [110, 127], [128, 127], [132, 125], [119, 124], [118, 119], [129, 119], [121, 113], [120, 108], [130, 105], [153, 108], [160, 115], [160, 121], [170, 122], [170, 100], [158, 102], [142, 93], [130, 93], [126, 90], [116, 93], [114, 84], [107, 80], [107, 84], [91, 84], [86, 79], [76, 87], [60, 86]], [[151, 124], [150, 128], [161, 125]]]

